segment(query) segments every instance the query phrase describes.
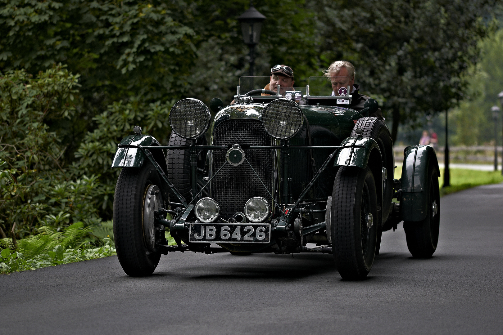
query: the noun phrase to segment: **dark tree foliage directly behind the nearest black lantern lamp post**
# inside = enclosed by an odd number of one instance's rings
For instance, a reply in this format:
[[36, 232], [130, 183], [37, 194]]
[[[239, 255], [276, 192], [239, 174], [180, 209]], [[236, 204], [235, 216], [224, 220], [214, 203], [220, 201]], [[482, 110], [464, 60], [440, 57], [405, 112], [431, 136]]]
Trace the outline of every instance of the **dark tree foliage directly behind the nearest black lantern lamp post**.
[[[248, 47], [241, 37], [237, 17], [249, 1], [201, 0], [192, 8], [196, 58], [188, 78], [188, 93], [205, 102], [218, 96], [229, 103], [239, 76], [248, 75]], [[314, 13], [304, 0], [254, 2], [267, 17], [256, 47], [255, 75], [270, 75], [271, 65], [292, 66], [297, 84], [318, 71]]]

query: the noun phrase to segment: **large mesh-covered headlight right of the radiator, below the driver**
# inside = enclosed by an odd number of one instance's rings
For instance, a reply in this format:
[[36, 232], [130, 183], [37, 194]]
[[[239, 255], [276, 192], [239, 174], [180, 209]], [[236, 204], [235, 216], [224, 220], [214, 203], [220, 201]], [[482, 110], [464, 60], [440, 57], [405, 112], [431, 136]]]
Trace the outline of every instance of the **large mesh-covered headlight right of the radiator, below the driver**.
[[262, 113], [266, 132], [279, 140], [288, 140], [297, 134], [304, 120], [299, 105], [290, 99], [280, 98], [269, 102]]

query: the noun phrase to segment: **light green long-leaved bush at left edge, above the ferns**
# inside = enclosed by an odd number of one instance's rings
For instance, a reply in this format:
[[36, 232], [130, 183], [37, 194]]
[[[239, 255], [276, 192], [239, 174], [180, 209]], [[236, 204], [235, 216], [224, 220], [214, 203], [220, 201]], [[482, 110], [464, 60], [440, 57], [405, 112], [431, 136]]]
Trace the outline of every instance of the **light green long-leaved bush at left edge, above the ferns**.
[[49, 131], [55, 120], [71, 119], [74, 115], [77, 78], [61, 65], [40, 72], [36, 78], [23, 70], [0, 73], [3, 238], [15, 223], [19, 239], [31, 235], [40, 218], [61, 210], [72, 216], [80, 213], [90, 220], [97, 217], [95, 210], [83, 208], [86, 205], [80, 203], [80, 199], [99, 192], [92, 187], [94, 179], [77, 180], [70, 185], [73, 175], [60, 160], [65, 144], [56, 132]]

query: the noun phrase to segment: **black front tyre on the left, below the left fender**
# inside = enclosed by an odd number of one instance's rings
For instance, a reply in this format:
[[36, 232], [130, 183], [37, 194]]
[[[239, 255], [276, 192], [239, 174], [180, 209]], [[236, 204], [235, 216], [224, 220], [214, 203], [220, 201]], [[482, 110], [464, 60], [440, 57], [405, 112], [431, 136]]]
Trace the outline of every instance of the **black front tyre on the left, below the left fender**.
[[[155, 248], [159, 236], [153, 224], [153, 209], [163, 203], [159, 185], [159, 175], [149, 161], [141, 168], [123, 168], [117, 180], [114, 240], [119, 263], [128, 276], [150, 276], [159, 263], [161, 253]], [[145, 203], [148, 205], [151, 196], [149, 210]]]

